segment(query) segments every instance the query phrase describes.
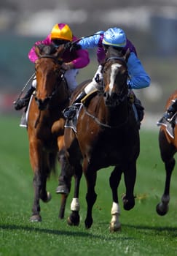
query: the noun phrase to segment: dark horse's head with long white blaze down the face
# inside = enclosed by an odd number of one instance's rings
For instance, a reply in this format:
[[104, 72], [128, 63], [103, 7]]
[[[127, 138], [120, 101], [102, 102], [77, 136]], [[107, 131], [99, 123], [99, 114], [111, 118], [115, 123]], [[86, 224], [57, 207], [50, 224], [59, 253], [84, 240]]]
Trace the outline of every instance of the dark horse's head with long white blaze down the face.
[[106, 52], [106, 62], [103, 66], [103, 86], [106, 106], [116, 107], [127, 98], [127, 59], [130, 50], [125, 55], [109, 47]]

